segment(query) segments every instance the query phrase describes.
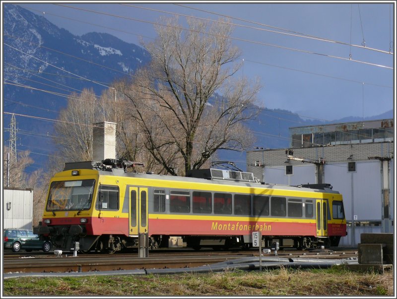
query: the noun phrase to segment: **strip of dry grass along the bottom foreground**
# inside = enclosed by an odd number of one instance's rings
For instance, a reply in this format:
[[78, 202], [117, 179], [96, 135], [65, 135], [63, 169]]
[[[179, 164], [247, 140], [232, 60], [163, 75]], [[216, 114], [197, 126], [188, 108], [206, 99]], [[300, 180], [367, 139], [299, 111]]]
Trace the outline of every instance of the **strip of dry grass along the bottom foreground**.
[[279, 269], [208, 274], [7, 279], [4, 296], [393, 296], [393, 272]]

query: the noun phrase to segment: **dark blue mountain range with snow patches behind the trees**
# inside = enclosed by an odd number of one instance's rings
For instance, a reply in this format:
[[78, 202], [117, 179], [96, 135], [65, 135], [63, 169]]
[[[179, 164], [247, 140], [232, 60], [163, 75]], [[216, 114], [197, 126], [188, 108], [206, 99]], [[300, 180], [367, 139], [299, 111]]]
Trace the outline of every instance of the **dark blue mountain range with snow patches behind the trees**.
[[[54, 147], [50, 137], [52, 120], [66, 107], [67, 95], [92, 88], [99, 96], [114, 80], [128, 76], [149, 60], [147, 51], [110, 34], [91, 32], [75, 36], [43, 16], [18, 5], [3, 4], [4, 144], [8, 145], [7, 127], [10, 113], [14, 113], [17, 149], [30, 149], [36, 164], [43, 165], [47, 158], [43, 149], [50, 155]], [[247, 122], [257, 136], [254, 146], [258, 147], [287, 148], [289, 127], [326, 123], [303, 120], [286, 110], [261, 109], [256, 120]], [[33, 116], [42, 119], [32, 120]], [[365, 120], [385, 118], [393, 118], [393, 111]], [[361, 119], [330, 122], [358, 120]], [[218, 157], [246, 168], [245, 152], [220, 151]]]

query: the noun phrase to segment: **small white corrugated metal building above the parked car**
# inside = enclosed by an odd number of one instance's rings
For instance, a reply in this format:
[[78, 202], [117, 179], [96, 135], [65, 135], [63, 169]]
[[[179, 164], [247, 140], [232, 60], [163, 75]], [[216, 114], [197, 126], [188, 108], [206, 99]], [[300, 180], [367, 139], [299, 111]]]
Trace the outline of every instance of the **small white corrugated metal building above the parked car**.
[[33, 191], [4, 189], [3, 228], [32, 229]]

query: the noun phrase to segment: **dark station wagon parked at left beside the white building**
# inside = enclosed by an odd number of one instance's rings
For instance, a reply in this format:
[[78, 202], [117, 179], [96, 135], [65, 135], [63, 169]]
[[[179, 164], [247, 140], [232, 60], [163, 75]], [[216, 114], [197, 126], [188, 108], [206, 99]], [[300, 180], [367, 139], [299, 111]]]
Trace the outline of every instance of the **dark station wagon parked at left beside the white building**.
[[49, 241], [40, 240], [39, 236], [30, 230], [6, 229], [3, 237], [4, 249], [11, 249], [13, 252], [19, 252], [21, 249], [28, 252], [32, 250], [48, 252], [52, 247]]

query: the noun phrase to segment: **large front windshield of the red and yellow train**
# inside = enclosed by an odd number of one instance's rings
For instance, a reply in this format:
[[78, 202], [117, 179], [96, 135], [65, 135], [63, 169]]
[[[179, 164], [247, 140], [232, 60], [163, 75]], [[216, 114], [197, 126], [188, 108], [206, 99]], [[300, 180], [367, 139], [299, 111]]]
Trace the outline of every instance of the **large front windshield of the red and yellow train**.
[[88, 210], [92, 203], [95, 179], [53, 181], [47, 211]]

